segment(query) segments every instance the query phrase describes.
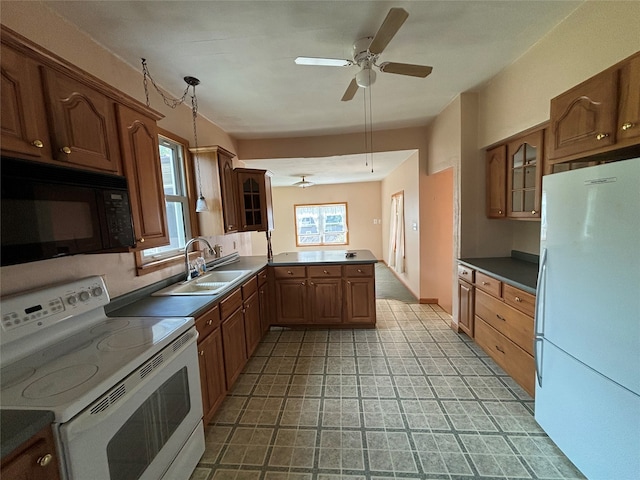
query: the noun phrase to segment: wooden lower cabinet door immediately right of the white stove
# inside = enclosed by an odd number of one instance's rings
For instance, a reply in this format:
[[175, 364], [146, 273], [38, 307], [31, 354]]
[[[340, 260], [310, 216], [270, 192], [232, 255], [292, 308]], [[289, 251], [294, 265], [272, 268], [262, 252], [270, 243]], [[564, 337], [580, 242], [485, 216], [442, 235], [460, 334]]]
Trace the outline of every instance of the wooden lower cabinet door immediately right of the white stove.
[[227, 393], [222, 334], [216, 328], [204, 340], [198, 342], [200, 384], [202, 386], [202, 410], [204, 424], [208, 424]]

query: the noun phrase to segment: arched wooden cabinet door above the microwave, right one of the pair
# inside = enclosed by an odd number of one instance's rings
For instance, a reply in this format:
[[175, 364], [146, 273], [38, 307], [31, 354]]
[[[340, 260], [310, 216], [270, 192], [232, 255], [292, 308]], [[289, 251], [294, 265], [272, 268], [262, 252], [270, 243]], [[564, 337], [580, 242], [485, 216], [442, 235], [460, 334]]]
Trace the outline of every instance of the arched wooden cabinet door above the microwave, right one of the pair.
[[120, 173], [114, 102], [101, 92], [45, 67], [45, 99], [53, 157], [59, 161]]

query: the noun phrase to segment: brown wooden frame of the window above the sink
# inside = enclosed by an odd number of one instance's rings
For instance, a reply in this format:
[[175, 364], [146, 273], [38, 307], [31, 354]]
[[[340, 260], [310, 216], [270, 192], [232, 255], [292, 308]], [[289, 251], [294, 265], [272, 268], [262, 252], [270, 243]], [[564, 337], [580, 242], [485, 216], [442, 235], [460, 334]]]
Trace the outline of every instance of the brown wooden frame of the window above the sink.
[[[189, 141], [168, 130], [158, 128], [158, 148], [163, 138], [182, 147], [182, 161], [184, 165], [184, 171], [181, 172], [181, 174], [183, 176], [183, 181], [186, 188], [186, 197], [179, 196], [176, 198], [180, 199], [180, 202], [183, 203], [183, 207], [186, 207], [183, 209], [183, 211], [185, 212], [185, 218], [188, 218], [189, 223], [191, 224], [191, 237], [196, 237], [199, 235], [199, 229], [198, 217], [195, 211], [195, 173], [193, 170], [193, 157], [191, 152], [189, 151]], [[171, 197], [173, 196], [165, 196], [165, 200]], [[184, 203], [186, 203], [186, 205], [184, 205]], [[162, 270], [163, 268], [167, 268], [184, 262], [184, 250], [177, 254], [161, 256], [155, 259], [145, 257], [142, 251], [136, 251], [135, 261], [137, 274], [145, 275], [147, 273], [153, 273], [158, 270]]]

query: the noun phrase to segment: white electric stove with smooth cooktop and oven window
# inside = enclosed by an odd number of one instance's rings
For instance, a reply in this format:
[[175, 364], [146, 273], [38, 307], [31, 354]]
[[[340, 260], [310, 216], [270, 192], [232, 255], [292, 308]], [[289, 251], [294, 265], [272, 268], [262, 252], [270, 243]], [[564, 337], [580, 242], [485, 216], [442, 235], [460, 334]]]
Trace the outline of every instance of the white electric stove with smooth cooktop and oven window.
[[63, 478], [188, 478], [204, 451], [193, 318], [108, 303], [97, 276], [2, 298], [0, 404], [54, 413]]

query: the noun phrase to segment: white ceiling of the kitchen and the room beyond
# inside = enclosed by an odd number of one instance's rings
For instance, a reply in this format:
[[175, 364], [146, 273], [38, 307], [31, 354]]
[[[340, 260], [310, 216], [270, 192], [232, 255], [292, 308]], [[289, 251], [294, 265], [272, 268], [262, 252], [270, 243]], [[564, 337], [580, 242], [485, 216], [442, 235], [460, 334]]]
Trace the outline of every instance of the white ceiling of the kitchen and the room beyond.
[[[391, 7], [404, 8], [409, 18], [379, 62], [431, 65], [433, 73], [425, 79], [378, 73], [371, 87], [374, 130], [427, 125], [460, 92], [489, 80], [582, 2], [43, 3], [134, 68], [141, 70], [140, 59], [146, 58], [155, 81], [175, 96], [186, 87], [183, 77], [197, 77], [199, 112], [231, 136], [250, 139], [363, 132], [364, 90], [350, 102], [340, 101], [358, 67], [300, 66], [294, 59], [351, 59], [353, 43], [375, 35]], [[408, 157], [402, 155], [377, 162], [376, 157], [374, 165], [388, 161], [395, 168]], [[324, 168], [318, 171], [318, 165]], [[372, 179], [363, 156], [251, 161], [249, 166], [272, 170], [274, 184], [291, 184], [303, 173], [316, 175], [318, 183], [342, 182], [350, 165], [360, 169], [359, 181]], [[328, 171], [335, 175], [321, 178]]]

